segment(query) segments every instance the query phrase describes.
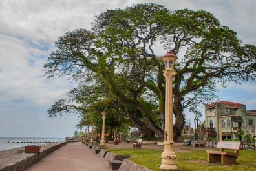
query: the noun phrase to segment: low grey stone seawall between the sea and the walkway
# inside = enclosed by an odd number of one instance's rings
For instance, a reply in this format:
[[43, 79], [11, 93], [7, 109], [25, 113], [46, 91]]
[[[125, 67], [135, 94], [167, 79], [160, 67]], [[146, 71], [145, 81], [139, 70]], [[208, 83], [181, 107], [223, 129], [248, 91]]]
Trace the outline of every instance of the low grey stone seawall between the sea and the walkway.
[[25, 147], [0, 151], [0, 171], [23, 171], [69, 141], [41, 145], [40, 153], [19, 153]]

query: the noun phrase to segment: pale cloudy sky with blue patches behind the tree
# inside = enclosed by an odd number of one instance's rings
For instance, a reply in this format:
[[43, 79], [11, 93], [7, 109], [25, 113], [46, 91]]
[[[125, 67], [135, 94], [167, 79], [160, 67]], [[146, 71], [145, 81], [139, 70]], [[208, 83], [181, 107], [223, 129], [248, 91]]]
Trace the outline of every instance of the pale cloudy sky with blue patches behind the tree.
[[[1, 0], [0, 1], [0, 137], [73, 136], [78, 116], [49, 118], [48, 108], [74, 88], [66, 77], [43, 77], [43, 65], [54, 41], [76, 28], [91, 28], [95, 15], [136, 3], [158, 3], [170, 10], [211, 12], [237, 32], [243, 43], [256, 45], [255, 0]], [[163, 55], [165, 52], [162, 53]], [[256, 109], [256, 83], [219, 87], [221, 101]], [[186, 111], [193, 123], [193, 114]], [[201, 118], [203, 120], [203, 118]]]

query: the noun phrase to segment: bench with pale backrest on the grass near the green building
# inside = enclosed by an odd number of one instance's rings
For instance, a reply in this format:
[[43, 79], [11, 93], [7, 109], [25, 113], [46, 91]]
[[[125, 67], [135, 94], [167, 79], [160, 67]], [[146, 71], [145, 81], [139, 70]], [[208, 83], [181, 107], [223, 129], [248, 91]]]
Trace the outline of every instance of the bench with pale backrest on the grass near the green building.
[[[222, 165], [235, 165], [236, 159], [239, 156], [239, 150], [241, 147], [240, 141], [219, 141], [217, 148], [219, 151], [206, 150], [208, 153], [208, 162], [221, 161]], [[224, 150], [235, 150], [234, 152], [225, 152]]]

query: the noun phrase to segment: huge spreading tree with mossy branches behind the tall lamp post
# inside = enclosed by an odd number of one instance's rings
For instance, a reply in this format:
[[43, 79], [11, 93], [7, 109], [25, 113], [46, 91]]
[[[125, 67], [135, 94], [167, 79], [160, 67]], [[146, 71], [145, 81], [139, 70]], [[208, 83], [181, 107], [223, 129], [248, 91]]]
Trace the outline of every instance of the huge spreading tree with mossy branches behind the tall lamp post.
[[152, 3], [107, 10], [96, 16], [90, 30], [68, 32], [58, 39], [44, 67], [50, 77], [69, 74], [81, 85], [100, 84], [134, 125], [164, 137], [160, 56], [167, 50], [178, 57], [174, 139], [184, 126], [184, 108], [214, 99], [219, 83], [255, 80], [255, 46], [242, 45], [237, 34], [209, 12], [173, 12]]

